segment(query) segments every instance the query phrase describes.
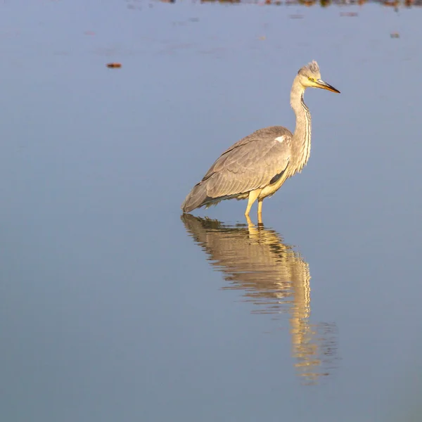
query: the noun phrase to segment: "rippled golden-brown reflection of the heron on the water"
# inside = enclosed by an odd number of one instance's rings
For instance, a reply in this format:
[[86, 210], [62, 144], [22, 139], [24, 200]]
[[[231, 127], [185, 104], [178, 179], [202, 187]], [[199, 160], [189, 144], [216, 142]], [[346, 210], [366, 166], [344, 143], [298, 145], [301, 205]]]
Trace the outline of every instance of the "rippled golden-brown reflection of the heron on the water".
[[212, 219], [182, 215], [186, 231], [209, 255], [212, 266], [241, 290], [257, 314], [290, 314], [292, 354], [298, 375], [316, 383], [329, 375], [337, 359], [335, 324], [311, 324], [309, 265], [281, 236], [264, 226], [229, 226]]

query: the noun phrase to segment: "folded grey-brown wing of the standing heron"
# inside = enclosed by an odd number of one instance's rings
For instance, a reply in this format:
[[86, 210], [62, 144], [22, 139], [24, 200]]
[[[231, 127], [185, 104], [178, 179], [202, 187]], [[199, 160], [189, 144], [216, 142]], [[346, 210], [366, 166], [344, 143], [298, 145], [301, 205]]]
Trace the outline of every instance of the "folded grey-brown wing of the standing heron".
[[286, 171], [292, 134], [284, 127], [267, 127], [246, 136], [222, 153], [205, 174], [208, 198], [234, 196], [263, 188]]

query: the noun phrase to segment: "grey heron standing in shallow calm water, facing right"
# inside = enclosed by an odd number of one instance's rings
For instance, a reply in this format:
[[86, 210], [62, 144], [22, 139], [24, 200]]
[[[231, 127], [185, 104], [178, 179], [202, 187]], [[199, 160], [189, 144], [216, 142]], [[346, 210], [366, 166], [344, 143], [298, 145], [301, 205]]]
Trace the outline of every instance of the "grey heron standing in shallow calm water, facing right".
[[296, 115], [295, 132], [286, 127], [259, 129], [234, 143], [217, 158], [203, 179], [193, 186], [181, 205], [183, 212], [217, 205], [224, 199], [246, 199], [250, 207], [258, 200], [258, 219], [262, 216], [262, 201], [272, 196], [281, 185], [301, 172], [311, 150], [311, 114], [303, 102], [307, 88], [340, 91], [323, 80], [316, 61], [300, 68], [290, 91], [290, 106]]

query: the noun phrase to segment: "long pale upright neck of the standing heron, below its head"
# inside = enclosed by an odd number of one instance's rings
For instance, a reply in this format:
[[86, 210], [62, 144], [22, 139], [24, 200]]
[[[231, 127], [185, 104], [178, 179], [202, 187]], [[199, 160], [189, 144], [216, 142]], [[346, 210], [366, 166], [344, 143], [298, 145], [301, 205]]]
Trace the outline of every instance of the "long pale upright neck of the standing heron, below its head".
[[296, 115], [292, 147], [295, 167], [298, 172], [305, 166], [311, 153], [311, 113], [303, 102], [304, 92], [305, 88], [299, 82], [298, 77], [295, 77], [290, 91], [290, 106], [292, 106]]

